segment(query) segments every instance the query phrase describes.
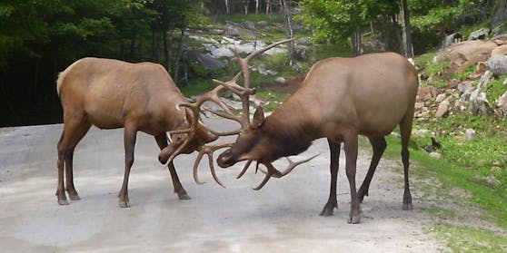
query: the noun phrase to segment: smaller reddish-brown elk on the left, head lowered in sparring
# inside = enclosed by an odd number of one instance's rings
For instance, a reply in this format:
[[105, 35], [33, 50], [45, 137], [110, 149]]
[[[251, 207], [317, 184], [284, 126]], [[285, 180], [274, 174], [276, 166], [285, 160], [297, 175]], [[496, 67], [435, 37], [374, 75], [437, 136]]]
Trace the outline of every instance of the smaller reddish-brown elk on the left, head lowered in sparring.
[[[55, 195], [60, 205], [70, 199], [78, 200], [73, 179], [75, 146], [92, 125], [101, 129], [124, 128], [124, 181], [118, 195], [119, 206], [128, 208], [128, 179], [134, 163], [137, 131], [154, 136], [161, 150], [171, 147], [179, 153], [190, 153], [205, 143], [217, 139], [198, 121], [198, 116], [177, 105], [186, 102], [173, 79], [162, 65], [155, 63], [125, 63], [112, 59], [83, 58], [60, 73], [56, 90], [64, 110], [64, 131], [57, 144], [58, 182]], [[177, 131], [194, 126], [193, 134]], [[167, 139], [174, 141], [168, 145]], [[173, 161], [167, 163], [179, 199], [190, 199], [182, 186]]]

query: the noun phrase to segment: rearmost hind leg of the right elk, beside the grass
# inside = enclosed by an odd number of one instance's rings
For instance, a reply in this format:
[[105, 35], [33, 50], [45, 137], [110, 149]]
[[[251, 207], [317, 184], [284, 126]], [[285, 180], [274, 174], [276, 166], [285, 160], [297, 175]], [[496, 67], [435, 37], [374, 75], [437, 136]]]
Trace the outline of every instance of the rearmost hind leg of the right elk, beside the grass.
[[403, 118], [400, 123], [400, 132], [402, 134], [402, 162], [403, 162], [403, 176], [404, 176], [404, 190], [403, 190], [403, 210], [413, 209], [412, 195], [410, 193], [409, 185], [409, 164], [410, 164], [410, 151], [408, 150], [408, 144], [410, 141], [410, 135], [412, 133], [412, 121], [413, 111], [407, 112], [407, 116]]

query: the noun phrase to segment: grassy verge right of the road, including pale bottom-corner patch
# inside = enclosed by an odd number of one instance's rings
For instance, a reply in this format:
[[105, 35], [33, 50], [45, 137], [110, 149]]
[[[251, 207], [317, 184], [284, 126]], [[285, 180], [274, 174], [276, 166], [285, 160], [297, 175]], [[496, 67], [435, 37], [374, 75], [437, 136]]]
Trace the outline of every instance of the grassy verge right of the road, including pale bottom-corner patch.
[[[394, 161], [400, 161], [400, 139], [393, 136], [388, 136], [386, 139], [388, 148], [384, 156]], [[442, 141], [442, 145], [445, 147], [447, 144]], [[486, 152], [484, 151], [482, 154]], [[411, 149], [411, 178], [417, 178], [416, 181], [421, 183], [413, 183], [412, 187], [425, 192], [422, 196], [424, 201], [440, 199], [442, 203], [458, 202], [462, 207], [468, 207], [472, 202], [484, 209], [487, 214], [477, 219], [489, 220], [503, 229], [507, 229], [507, 194], [505, 191], [492, 190], [491, 186], [477, 181], [477, 170], [472, 170], [470, 166], [462, 166], [461, 164], [461, 162], [452, 161], [447, 156], [439, 160], [430, 157], [428, 153], [420, 149]], [[456, 194], [455, 190], [452, 190], [453, 188], [461, 189], [465, 193]], [[437, 238], [445, 239], [452, 252], [505, 252], [506, 238], [490, 230], [452, 225], [452, 219], [467, 218], [466, 216], [469, 214], [466, 209], [463, 210], [444, 209], [436, 206], [425, 209], [435, 220], [439, 220], [431, 228], [431, 232], [435, 232]]]

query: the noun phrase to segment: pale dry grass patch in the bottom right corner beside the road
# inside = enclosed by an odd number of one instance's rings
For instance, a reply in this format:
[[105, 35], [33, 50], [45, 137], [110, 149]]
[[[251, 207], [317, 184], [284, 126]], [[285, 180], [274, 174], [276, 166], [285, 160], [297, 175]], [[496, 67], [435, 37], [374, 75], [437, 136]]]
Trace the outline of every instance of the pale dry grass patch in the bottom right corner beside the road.
[[452, 252], [507, 252], [507, 240], [482, 229], [439, 224], [430, 229]]

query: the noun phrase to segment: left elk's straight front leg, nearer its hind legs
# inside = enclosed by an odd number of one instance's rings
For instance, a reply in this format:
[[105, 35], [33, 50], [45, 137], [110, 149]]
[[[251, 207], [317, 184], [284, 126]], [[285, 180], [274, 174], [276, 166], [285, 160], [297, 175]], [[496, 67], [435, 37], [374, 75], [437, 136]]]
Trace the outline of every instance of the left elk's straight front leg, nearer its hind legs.
[[125, 171], [124, 171], [124, 183], [122, 184], [122, 190], [118, 194], [118, 204], [120, 208], [129, 208], [130, 203], [128, 199], [128, 177], [130, 175], [130, 169], [134, 164], [134, 146], [137, 130], [134, 127], [128, 127], [125, 125], [124, 130], [124, 147], [125, 147]]

